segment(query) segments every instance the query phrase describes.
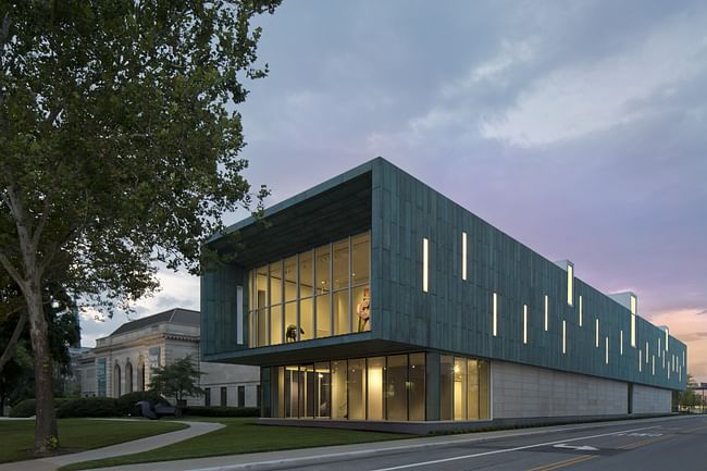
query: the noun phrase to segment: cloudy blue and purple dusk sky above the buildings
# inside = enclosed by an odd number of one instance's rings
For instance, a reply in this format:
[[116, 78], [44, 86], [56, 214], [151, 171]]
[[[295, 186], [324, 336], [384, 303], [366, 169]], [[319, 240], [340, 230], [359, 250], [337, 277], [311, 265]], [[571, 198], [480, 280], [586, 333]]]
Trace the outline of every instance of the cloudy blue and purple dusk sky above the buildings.
[[[376, 156], [689, 344], [707, 382], [707, 4], [288, 1], [240, 111], [269, 204]], [[227, 218], [232, 223], [240, 215]], [[132, 319], [199, 307], [161, 272]], [[84, 344], [126, 317], [84, 321]]]

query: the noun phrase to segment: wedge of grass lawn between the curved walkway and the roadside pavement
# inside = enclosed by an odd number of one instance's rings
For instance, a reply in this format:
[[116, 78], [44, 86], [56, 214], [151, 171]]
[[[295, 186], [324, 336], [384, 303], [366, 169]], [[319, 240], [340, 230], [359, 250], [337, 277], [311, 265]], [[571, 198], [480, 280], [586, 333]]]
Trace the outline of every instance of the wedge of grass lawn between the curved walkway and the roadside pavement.
[[215, 432], [151, 451], [69, 464], [62, 467], [61, 471], [175, 459], [204, 458], [220, 455], [274, 451], [278, 449], [380, 442], [385, 439], [409, 438], [411, 436], [337, 429], [258, 425], [256, 424], [256, 419], [252, 418], [199, 418], [195, 420], [220, 422], [226, 426]]

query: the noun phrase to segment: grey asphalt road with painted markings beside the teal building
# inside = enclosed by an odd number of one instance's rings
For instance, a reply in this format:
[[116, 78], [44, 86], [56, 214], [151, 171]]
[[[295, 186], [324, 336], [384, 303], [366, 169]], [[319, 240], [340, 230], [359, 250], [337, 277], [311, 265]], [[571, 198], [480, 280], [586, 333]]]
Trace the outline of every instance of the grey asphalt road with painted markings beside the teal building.
[[572, 425], [550, 431], [528, 431], [523, 435], [400, 447], [365, 456], [343, 454], [337, 458], [332, 455], [313, 455], [310, 458], [296, 463], [251, 463], [248, 469], [706, 471], [707, 418], [681, 417], [603, 425]]

